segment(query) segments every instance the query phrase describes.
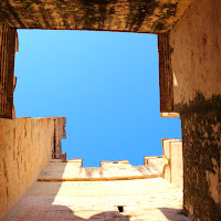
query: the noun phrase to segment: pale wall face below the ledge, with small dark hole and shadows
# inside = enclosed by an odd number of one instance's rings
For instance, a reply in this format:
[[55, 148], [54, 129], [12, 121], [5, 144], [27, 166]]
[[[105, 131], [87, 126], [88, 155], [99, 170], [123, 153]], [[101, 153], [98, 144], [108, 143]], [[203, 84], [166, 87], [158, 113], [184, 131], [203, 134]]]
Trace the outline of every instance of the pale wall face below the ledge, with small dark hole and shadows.
[[182, 191], [161, 178], [39, 181], [7, 221], [189, 221], [181, 209]]

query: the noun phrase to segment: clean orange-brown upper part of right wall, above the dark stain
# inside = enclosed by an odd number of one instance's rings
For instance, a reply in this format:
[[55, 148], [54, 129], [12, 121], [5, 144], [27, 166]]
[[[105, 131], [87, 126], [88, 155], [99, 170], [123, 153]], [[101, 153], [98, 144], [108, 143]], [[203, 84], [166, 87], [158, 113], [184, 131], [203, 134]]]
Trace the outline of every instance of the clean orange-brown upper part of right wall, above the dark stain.
[[175, 105], [220, 95], [221, 2], [196, 0], [170, 32]]

